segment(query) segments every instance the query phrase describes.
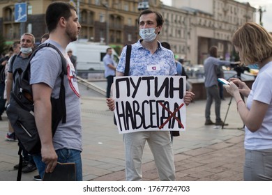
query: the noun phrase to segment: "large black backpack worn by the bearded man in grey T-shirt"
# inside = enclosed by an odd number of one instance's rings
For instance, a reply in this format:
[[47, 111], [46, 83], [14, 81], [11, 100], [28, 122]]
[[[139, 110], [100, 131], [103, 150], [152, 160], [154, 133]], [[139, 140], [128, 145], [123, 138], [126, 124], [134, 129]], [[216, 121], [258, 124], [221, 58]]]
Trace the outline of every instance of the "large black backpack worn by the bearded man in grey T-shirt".
[[[30, 81], [30, 62], [35, 56], [38, 50], [44, 47], [52, 47], [61, 56], [61, 88], [59, 98], [51, 98], [52, 103], [52, 135], [56, 132], [56, 127], [62, 120], [62, 123], [66, 123], [66, 103], [65, 103], [65, 88], [63, 84], [63, 77], [67, 75], [67, 62], [63, 57], [59, 49], [50, 43], [45, 43], [36, 48], [31, 54], [27, 63], [27, 68], [20, 76], [15, 79], [13, 84], [13, 91], [10, 92], [10, 104], [6, 109], [6, 114], [10, 120], [10, 124], [13, 127], [15, 136], [18, 139], [18, 145], [21, 149], [26, 150], [31, 155], [40, 154], [40, 137], [35, 123], [34, 117], [34, 105], [32, 98], [32, 89], [29, 84]], [[13, 58], [15, 59], [15, 58]], [[13, 75], [14, 77], [15, 75]], [[15, 78], [15, 77], [14, 77]]]

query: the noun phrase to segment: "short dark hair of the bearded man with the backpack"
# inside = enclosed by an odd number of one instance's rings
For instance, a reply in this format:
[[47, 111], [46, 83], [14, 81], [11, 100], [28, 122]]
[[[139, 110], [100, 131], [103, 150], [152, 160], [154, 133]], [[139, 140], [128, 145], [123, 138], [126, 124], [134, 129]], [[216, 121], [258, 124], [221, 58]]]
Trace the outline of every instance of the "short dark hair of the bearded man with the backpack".
[[45, 23], [49, 33], [56, 29], [56, 25], [61, 17], [64, 17], [65, 20], [69, 19], [69, 17], [72, 15], [71, 10], [77, 11], [70, 3], [60, 1], [51, 3], [47, 7], [45, 13]]

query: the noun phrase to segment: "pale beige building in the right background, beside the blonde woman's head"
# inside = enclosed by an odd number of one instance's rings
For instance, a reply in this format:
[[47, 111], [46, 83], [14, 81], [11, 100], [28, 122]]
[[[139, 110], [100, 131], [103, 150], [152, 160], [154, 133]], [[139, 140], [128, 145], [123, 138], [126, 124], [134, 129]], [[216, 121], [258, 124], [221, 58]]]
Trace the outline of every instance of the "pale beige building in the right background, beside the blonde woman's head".
[[172, 0], [172, 6], [194, 15], [187, 27], [192, 39], [187, 39], [186, 59], [192, 64], [202, 64], [212, 45], [220, 58], [234, 60], [233, 33], [245, 22], [255, 22], [255, 8], [234, 0]]

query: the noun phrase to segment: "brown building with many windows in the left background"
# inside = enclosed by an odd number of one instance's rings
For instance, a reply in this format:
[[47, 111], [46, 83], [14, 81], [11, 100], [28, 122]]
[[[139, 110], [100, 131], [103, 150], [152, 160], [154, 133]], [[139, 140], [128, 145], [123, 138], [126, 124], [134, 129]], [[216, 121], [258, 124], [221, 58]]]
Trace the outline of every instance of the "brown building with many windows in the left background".
[[[80, 39], [100, 42], [120, 50], [123, 45], [136, 42], [138, 36], [138, 1], [131, 0], [66, 0], [77, 8], [82, 25]], [[52, 0], [0, 1], [0, 33], [7, 42], [20, 40], [24, 32], [33, 33], [37, 43], [44, 33], [45, 11]], [[160, 1], [158, 1], [160, 3]], [[157, 3], [158, 3], [157, 2]], [[27, 22], [15, 22], [15, 3], [27, 3]], [[156, 2], [149, 3], [156, 6]], [[158, 7], [158, 6], [157, 6]], [[118, 51], [120, 52], [120, 51]]]

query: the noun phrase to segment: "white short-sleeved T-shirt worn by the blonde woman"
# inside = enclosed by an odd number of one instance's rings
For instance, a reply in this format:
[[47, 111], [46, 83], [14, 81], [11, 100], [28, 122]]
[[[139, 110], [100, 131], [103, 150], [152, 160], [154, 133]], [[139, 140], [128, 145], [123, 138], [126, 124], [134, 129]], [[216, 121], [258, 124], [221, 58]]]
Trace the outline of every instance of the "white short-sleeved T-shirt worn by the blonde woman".
[[272, 148], [272, 62], [264, 65], [252, 84], [248, 95], [247, 107], [252, 106], [252, 101], [257, 100], [269, 104], [262, 126], [256, 132], [250, 132], [245, 126], [245, 149], [264, 150]]

